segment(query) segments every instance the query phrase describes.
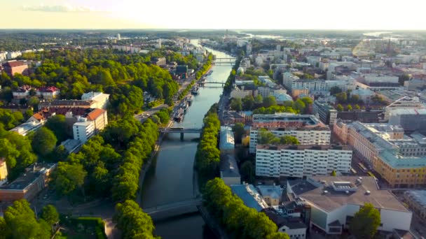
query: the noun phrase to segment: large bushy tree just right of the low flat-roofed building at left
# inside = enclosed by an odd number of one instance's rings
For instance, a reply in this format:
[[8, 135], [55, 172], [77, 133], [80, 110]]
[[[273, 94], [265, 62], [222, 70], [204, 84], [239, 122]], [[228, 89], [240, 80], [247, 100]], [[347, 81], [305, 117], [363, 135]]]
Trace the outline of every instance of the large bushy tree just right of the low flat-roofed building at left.
[[87, 174], [88, 173], [81, 164], [59, 162], [54, 176], [54, 184], [57, 193], [69, 194], [71, 191], [81, 188]]

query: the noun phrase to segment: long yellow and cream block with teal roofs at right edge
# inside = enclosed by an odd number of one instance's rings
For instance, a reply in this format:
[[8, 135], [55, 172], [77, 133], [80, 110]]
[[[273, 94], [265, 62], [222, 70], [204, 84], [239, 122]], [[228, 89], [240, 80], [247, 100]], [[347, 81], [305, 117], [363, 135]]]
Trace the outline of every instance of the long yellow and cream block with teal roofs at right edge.
[[426, 136], [391, 124], [342, 122], [334, 133], [366, 161], [389, 187], [426, 185]]

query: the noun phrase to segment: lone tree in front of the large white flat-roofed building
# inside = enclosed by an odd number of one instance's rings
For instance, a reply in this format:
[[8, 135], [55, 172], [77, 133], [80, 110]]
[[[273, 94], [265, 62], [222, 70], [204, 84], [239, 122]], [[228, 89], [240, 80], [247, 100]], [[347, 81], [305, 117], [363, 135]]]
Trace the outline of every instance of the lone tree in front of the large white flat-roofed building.
[[364, 203], [350, 221], [349, 231], [356, 238], [373, 238], [380, 226], [380, 212], [371, 203]]

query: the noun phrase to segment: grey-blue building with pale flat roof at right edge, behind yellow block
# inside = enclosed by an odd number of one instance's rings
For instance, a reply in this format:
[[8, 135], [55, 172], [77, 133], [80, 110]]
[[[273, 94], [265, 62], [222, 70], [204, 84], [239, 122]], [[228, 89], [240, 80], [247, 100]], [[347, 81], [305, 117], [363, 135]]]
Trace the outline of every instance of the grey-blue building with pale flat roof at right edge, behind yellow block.
[[426, 108], [391, 110], [389, 124], [400, 125], [408, 132], [426, 133]]

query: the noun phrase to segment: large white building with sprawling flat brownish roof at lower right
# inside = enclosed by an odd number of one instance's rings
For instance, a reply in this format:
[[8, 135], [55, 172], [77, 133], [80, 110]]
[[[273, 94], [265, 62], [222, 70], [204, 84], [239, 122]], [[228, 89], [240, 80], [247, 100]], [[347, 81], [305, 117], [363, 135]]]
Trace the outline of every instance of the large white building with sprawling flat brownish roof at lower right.
[[375, 178], [355, 176], [316, 176], [288, 180], [287, 194], [310, 205], [310, 228], [338, 235], [364, 203], [380, 212], [378, 230], [410, 230], [412, 213], [390, 191], [380, 190]]

